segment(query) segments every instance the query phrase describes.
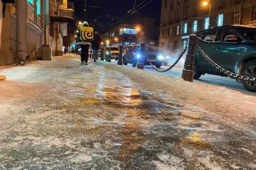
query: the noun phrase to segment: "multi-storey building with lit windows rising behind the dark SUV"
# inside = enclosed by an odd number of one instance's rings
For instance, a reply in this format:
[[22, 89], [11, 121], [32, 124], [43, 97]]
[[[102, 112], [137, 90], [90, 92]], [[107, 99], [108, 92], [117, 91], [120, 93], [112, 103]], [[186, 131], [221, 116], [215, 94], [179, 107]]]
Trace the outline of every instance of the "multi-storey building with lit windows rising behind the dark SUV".
[[255, 0], [162, 0], [159, 48], [182, 50], [189, 34], [237, 24], [256, 24]]

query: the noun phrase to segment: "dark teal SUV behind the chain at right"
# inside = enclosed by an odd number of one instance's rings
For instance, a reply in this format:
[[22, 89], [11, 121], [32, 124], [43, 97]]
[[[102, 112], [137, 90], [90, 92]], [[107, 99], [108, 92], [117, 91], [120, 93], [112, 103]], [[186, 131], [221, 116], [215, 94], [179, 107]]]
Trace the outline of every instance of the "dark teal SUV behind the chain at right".
[[[227, 25], [198, 32], [198, 44], [214, 62], [232, 73], [256, 77], [256, 27]], [[226, 76], [211, 66], [196, 48], [195, 79], [202, 74]], [[247, 90], [256, 92], [256, 82], [242, 81]]]

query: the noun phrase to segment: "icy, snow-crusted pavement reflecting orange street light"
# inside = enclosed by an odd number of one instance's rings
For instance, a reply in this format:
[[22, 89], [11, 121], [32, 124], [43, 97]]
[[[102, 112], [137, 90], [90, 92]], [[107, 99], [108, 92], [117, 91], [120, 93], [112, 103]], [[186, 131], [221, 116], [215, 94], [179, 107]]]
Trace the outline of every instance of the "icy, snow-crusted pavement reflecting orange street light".
[[0, 74], [0, 169], [256, 169], [255, 94], [75, 55]]

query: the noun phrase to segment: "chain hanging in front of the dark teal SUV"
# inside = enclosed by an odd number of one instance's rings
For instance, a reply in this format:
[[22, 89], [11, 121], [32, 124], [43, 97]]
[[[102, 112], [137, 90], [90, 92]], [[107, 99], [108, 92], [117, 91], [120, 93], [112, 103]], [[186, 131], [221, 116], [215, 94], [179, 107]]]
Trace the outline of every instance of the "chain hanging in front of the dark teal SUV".
[[209, 55], [207, 55], [204, 52], [204, 50], [201, 48], [200, 45], [198, 45], [198, 43], [196, 44], [196, 46], [197, 46], [199, 52], [202, 53], [202, 55], [205, 57], [205, 59], [209, 62], [209, 64], [211, 64], [213, 67], [215, 67], [221, 73], [224, 73], [226, 76], [228, 76], [230, 78], [233, 78], [233, 79], [236, 79], [236, 80], [256, 81], [256, 77], [241, 76], [239, 74], [235, 74], [235, 73], [232, 73], [230, 71], [227, 71], [227, 69], [224, 69], [223, 67], [218, 65], [216, 62], [214, 62], [214, 60], [212, 60], [211, 57], [209, 57]]

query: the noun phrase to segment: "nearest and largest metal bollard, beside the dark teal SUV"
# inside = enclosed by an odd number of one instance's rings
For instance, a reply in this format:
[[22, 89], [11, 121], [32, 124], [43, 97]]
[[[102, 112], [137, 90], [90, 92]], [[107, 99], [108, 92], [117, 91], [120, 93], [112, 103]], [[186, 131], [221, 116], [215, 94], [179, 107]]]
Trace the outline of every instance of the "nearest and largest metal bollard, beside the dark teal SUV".
[[191, 81], [191, 82], [194, 81], [195, 45], [196, 45], [196, 35], [191, 34], [189, 36], [188, 54], [186, 55], [184, 69], [182, 71], [182, 78], [185, 81]]

